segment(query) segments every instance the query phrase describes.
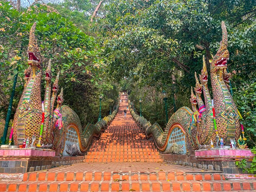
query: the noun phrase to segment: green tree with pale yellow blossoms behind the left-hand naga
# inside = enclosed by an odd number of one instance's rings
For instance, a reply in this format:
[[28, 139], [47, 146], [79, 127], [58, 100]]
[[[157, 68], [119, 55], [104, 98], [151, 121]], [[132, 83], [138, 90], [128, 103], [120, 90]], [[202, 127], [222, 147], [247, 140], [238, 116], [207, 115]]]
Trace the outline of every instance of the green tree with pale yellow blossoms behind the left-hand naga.
[[[18, 12], [8, 2], [0, 3], [0, 111], [5, 111], [8, 107], [8, 96], [12, 91], [16, 73], [19, 74], [14, 107], [20, 99], [24, 84], [23, 71], [28, 67], [29, 31], [36, 22], [35, 36], [42, 56], [43, 70], [51, 58], [53, 76], [58, 70], [61, 73], [60, 87], [64, 88], [65, 98], [63, 104], [73, 108], [83, 124], [95, 123], [98, 118], [98, 99], [95, 97], [99, 92], [113, 89], [112, 84], [103, 81], [103, 49], [96, 43], [95, 38], [86, 35], [48, 5], [33, 5], [22, 8], [24, 12]], [[52, 79], [54, 80], [55, 78]], [[44, 86], [45, 82], [42, 83]], [[42, 96], [43, 92], [44, 89]], [[113, 101], [114, 98], [109, 99]], [[85, 104], [81, 105], [81, 102]], [[7, 107], [3, 103], [7, 104]], [[103, 106], [103, 115], [107, 115], [105, 111], [108, 110], [109, 113], [109, 109], [109, 105]], [[90, 110], [95, 113], [90, 113]]]

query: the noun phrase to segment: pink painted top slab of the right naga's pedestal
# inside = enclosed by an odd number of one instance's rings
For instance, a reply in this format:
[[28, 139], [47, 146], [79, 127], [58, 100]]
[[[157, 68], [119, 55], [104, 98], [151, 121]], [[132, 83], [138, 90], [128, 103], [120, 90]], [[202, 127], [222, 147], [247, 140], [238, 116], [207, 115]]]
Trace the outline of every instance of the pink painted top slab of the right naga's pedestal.
[[197, 150], [194, 152], [196, 158], [205, 157], [218, 157], [226, 159], [227, 157], [237, 157], [237, 158], [253, 158], [253, 154], [249, 149], [210, 149], [210, 150]]

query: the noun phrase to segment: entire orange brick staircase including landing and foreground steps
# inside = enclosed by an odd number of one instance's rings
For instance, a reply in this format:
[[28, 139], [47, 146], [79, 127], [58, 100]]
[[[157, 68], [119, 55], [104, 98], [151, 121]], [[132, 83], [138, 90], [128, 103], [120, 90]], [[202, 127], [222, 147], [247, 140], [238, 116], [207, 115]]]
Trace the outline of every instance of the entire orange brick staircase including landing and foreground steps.
[[[0, 181], [0, 191], [253, 191], [255, 180], [226, 180], [223, 172], [163, 162], [153, 142], [133, 121], [122, 95], [118, 114], [95, 139], [83, 163], [21, 174]], [[8, 177], [8, 175], [6, 176]]]

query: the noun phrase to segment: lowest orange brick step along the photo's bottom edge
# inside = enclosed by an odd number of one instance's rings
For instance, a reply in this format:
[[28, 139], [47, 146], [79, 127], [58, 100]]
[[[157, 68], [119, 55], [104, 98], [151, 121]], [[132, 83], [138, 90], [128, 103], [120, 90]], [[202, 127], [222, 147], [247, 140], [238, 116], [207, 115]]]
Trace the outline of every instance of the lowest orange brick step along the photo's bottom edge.
[[13, 182], [0, 184], [0, 191], [238, 191], [256, 189], [256, 182], [251, 180], [230, 181], [156, 181], [156, 182], [138, 182], [138, 181], [121, 181], [121, 182]]

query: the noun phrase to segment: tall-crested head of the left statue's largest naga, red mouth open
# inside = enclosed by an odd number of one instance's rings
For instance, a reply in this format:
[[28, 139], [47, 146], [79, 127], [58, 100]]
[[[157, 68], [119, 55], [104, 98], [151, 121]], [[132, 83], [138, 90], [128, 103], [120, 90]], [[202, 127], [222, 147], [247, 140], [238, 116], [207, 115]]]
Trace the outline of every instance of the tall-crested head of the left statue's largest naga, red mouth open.
[[37, 23], [34, 23], [29, 33], [28, 43], [28, 65], [40, 67], [41, 55], [35, 38], [35, 28]]

